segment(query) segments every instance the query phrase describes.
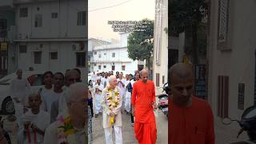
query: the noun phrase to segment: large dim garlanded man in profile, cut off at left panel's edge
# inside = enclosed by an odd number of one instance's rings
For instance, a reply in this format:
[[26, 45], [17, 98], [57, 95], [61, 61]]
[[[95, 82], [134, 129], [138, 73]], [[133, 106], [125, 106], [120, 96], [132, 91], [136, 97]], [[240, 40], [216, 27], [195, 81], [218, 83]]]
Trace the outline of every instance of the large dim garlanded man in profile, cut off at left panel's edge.
[[66, 91], [67, 109], [46, 129], [44, 144], [87, 143], [87, 90], [77, 82]]

